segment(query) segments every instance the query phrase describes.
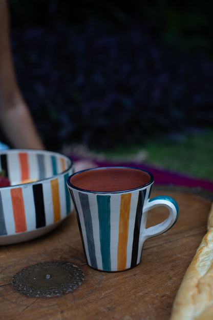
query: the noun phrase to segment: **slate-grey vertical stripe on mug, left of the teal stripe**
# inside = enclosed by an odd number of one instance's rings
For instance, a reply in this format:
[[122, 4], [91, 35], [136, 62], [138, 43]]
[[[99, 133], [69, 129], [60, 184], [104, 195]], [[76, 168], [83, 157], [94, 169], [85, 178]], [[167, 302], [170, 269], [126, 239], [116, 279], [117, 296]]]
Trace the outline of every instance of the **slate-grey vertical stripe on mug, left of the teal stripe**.
[[93, 237], [93, 224], [92, 224], [92, 217], [90, 212], [89, 197], [87, 194], [81, 193], [81, 192], [78, 192], [78, 195], [80, 199], [81, 209], [83, 212], [83, 220], [84, 220], [84, 226], [86, 229], [90, 262], [91, 262], [91, 265], [97, 269], [95, 243], [94, 243], [94, 237]]

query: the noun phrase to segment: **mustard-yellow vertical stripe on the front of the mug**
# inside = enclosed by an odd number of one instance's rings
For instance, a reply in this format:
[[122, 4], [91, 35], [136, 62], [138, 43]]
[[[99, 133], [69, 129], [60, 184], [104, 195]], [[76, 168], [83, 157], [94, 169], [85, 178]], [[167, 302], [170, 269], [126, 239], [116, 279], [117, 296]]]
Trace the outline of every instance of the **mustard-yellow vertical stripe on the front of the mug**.
[[132, 193], [121, 194], [118, 237], [118, 270], [125, 270], [126, 268], [131, 196]]

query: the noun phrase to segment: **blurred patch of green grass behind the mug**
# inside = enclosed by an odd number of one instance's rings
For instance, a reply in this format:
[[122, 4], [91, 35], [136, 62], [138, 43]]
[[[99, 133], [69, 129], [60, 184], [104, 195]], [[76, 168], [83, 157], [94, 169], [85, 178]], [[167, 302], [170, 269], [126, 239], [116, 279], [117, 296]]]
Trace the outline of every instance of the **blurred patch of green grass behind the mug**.
[[134, 158], [140, 150], [147, 153], [144, 163], [213, 179], [213, 130], [188, 135], [181, 142], [151, 139], [143, 146], [120, 146], [116, 150], [106, 152], [105, 156]]

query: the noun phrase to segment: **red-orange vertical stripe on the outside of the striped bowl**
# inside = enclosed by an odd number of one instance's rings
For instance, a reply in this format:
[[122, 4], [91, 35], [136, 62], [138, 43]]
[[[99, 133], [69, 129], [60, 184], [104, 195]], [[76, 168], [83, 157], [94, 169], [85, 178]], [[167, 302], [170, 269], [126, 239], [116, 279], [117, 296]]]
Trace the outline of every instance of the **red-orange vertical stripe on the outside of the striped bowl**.
[[10, 194], [12, 198], [15, 232], [24, 232], [27, 230], [27, 224], [22, 188], [11, 189]]

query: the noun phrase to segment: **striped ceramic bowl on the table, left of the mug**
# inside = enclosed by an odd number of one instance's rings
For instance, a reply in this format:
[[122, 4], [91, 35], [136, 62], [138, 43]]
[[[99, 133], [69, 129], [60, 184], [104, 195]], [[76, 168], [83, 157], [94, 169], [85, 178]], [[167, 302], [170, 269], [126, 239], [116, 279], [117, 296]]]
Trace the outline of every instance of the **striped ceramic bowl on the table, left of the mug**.
[[11, 149], [0, 152], [0, 245], [28, 241], [54, 229], [72, 211], [66, 180], [73, 161], [60, 153]]

